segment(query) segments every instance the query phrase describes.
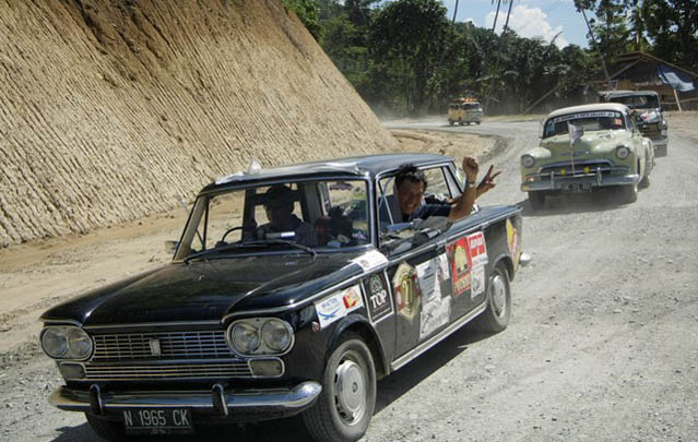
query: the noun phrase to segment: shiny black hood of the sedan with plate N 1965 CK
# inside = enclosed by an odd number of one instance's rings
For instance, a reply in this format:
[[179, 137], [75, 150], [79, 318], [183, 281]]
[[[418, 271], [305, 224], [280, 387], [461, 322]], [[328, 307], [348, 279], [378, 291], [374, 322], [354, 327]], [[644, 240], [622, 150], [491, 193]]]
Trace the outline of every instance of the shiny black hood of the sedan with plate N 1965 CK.
[[363, 252], [256, 255], [173, 263], [48, 310], [83, 325], [218, 321], [233, 311], [284, 307], [362, 273]]

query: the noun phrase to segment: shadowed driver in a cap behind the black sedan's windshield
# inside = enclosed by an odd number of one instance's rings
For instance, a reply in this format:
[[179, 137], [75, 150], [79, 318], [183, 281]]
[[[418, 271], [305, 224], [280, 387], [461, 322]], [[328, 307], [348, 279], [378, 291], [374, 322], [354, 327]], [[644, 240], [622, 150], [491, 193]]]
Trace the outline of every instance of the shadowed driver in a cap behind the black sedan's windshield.
[[[275, 237], [293, 240], [304, 246], [317, 246], [315, 229], [310, 224], [294, 215], [293, 208], [293, 191], [288, 187], [276, 184], [269, 188], [264, 193], [264, 210], [269, 223], [257, 228], [257, 239]], [[285, 238], [281, 235], [282, 232], [294, 232], [295, 237]]]

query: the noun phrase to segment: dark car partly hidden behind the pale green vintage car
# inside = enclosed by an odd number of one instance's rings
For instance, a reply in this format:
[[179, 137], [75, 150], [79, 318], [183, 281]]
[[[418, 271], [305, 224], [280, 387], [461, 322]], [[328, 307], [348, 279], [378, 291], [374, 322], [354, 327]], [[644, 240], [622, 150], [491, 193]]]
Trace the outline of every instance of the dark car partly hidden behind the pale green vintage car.
[[655, 156], [666, 156], [669, 144], [669, 122], [654, 91], [602, 91], [601, 103], [620, 103], [632, 109], [642, 135], [652, 140]]

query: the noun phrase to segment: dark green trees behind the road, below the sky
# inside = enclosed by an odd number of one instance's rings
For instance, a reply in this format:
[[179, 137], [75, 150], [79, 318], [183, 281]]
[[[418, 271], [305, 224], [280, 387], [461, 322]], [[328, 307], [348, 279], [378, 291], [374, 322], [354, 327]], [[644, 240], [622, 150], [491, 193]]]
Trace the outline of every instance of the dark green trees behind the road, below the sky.
[[[464, 95], [478, 97], [490, 116], [545, 112], [583, 101], [593, 93], [590, 82], [603, 77], [601, 60], [630, 51], [698, 70], [697, 0], [576, 0], [596, 45], [588, 36], [589, 48], [561, 49], [555, 39], [523, 38], [510, 28], [497, 35], [452, 23], [438, 0], [284, 3], [378, 115], [443, 112]], [[507, 9], [504, 0], [499, 23]], [[548, 93], [544, 105], [536, 103]]]

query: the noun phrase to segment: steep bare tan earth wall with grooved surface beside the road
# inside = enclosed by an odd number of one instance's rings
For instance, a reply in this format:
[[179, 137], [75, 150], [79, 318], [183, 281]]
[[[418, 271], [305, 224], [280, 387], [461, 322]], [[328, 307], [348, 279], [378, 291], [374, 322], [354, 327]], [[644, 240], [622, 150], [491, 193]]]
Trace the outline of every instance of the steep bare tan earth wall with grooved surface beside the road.
[[0, 246], [394, 143], [281, 0], [0, 0]]

